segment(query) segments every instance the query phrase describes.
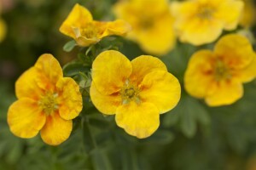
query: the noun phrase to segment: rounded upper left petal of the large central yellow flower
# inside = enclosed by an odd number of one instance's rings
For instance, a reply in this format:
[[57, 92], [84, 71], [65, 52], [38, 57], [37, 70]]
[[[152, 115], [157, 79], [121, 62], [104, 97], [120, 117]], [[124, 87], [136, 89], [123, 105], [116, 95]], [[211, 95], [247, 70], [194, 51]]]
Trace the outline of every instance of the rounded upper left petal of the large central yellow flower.
[[92, 80], [101, 94], [118, 92], [130, 75], [131, 62], [118, 51], [104, 51], [92, 64]]

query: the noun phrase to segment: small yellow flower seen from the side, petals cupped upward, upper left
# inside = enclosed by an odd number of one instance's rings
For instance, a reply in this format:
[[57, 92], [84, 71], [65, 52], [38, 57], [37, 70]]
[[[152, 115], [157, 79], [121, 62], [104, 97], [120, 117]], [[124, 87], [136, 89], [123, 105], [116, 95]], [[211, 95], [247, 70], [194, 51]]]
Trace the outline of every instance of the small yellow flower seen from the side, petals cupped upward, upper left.
[[124, 36], [131, 26], [124, 20], [102, 22], [93, 20], [87, 8], [78, 3], [60, 27], [61, 33], [73, 39], [79, 46], [87, 47], [111, 35]]

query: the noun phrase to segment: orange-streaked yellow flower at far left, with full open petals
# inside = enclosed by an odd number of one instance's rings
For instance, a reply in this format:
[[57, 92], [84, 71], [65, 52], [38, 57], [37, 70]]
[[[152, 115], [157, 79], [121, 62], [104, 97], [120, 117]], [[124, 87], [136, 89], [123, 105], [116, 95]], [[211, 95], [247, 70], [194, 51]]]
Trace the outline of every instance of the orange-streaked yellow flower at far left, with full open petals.
[[15, 83], [18, 98], [10, 105], [8, 123], [20, 138], [32, 138], [41, 132], [45, 143], [61, 144], [69, 137], [73, 122], [82, 110], [79, 85], [63, 77], [61, 65], [51, 54], [43, 54], [37, 63]]

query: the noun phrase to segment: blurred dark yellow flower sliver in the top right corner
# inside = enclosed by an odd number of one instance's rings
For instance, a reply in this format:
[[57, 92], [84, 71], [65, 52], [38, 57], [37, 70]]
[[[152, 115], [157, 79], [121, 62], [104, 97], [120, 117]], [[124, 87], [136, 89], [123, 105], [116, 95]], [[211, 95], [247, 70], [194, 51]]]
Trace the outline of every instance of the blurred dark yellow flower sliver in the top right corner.
[[240, 20], [240, 25], [244, 27], [250, 27], [255, 24], [256, 6], [252, 0], [243, 0], [244, 10]]

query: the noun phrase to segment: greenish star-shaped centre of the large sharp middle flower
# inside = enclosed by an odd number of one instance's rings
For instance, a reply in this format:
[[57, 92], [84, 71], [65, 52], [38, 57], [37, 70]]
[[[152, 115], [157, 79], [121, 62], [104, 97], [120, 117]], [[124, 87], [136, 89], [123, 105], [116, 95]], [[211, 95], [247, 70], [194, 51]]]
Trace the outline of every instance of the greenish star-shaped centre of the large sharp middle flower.
[[140, 103], [139, 98], [139, 88], [134, 86], [129, 82], [129, 80], [125, 81], [125, 86], [121, 89], [120, 94], [122, 97], [123, 105], [128, 104], [131, 100], [135, 101], [137, 104]]

